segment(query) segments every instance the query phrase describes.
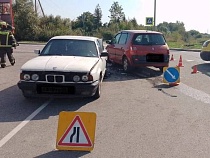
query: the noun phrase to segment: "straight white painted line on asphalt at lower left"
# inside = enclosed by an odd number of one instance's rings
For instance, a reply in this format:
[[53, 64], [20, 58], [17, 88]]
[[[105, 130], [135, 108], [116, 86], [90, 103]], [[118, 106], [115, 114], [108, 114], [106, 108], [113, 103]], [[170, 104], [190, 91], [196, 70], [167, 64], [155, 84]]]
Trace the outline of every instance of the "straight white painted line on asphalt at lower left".
[[36, 111], [22, 121], [17, 127], [15, 127], [10, 133], [8, 133], [3, 139], [0, 140], [0, 148], [7, 143], [18, 131], [20, 131], [27, 123], [29, 123], [38, 113], [40, 113], [49, 103], [51, 99], [42, 104]]

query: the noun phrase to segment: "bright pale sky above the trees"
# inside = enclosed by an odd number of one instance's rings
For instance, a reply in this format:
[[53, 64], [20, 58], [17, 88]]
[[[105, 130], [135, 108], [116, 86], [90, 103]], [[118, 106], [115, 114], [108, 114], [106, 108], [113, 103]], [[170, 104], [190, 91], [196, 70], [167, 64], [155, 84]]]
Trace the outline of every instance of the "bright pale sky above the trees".
[[[40, 0], [44, 14], [76, 20], [83, 12], [94, 13], [97, 4], [102, 10], [102, 22], [109, 22], [111, 8], [118, 2], [126, 19], [136, 18], [146, 25], [146, 17], [154, 17], [155, 0]], [[38, 1], [37, 1], [38, 2]], [[156, 0], [156, 25], [163, 22], [183, 22], [186, 31], [210, 33], [210, 0]]]

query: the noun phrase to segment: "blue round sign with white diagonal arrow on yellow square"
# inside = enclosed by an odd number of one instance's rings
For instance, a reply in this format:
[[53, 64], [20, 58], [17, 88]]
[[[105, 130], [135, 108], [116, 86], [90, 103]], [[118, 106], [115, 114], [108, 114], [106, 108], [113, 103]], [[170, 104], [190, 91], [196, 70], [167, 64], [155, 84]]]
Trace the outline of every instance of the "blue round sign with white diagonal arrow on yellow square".
[[180, 82], [180, 68], [179, 67], [164, 67], [163, 82], [165, 83], [179, 83]]

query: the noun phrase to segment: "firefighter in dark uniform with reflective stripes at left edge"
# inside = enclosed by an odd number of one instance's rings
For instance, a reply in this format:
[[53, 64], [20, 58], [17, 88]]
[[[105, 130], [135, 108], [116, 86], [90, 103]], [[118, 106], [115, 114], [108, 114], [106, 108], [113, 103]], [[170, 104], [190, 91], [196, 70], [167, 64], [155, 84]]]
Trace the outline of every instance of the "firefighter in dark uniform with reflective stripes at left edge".
[[1, 67], [6, 67], [6, 54], [9, 58], [11, 65], [15, 64], [15, 58], [13, 56], [13, 47], [16, 48], [17, 42], [12, 34], [11, 30], [7, 28], [6, 22], [0, 22], [0, 57], [1, 57]]

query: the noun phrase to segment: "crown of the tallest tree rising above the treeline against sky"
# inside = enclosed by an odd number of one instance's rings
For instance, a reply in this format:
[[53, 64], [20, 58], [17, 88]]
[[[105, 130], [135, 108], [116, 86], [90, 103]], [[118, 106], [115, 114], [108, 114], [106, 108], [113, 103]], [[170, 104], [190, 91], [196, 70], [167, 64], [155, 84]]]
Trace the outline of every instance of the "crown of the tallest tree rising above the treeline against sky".
[[113, 2], [111, 8], [109, 9], [110, 12], [110, 22], [121, 22], [125, 20], [125, 14], [123, 12], [123, 8], [119, 5], [118, 2]]

